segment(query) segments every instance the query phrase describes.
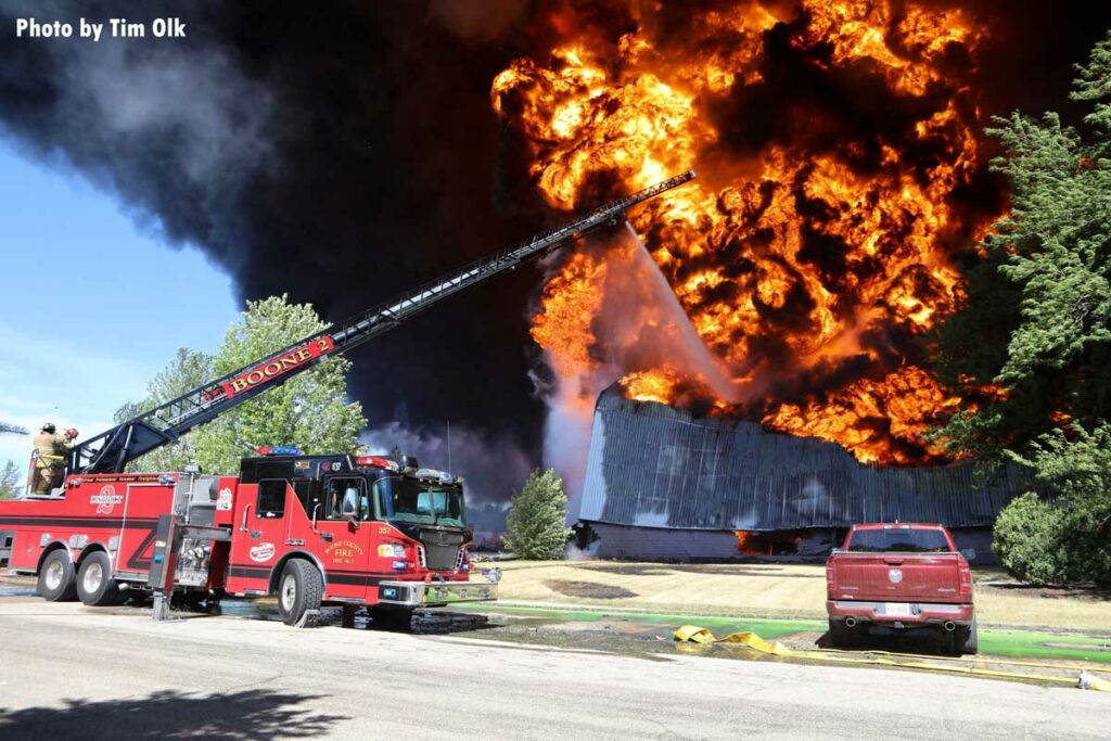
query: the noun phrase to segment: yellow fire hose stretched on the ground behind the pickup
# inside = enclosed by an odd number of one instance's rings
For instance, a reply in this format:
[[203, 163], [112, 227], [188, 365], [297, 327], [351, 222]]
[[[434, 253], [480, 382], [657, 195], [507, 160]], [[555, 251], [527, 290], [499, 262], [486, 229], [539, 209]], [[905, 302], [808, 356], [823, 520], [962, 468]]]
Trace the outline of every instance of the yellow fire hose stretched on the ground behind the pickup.
[[[835, 649], [792, 649], [783, 645], [779, 641], [769, 642], [760, 638], [757, 633], [741, 631], [730, 633], [724, 638], [717, 638], [708, 628], [698, 625], [683, 625], [673, 635], [677, 641], [689, 641], [692, 643], [731, 643], [770, 655], [810, 659], [814, 661], [835, 661], [841, 663], [877, 664], [884, 667], [901, 667], [904, 669], [927, 669], [930, 671], [948, 671], [959, 674], [972, 674], [975, 677], [994, 677], [1000, 679], [1022, 679], [1037, 680], [1041, 682], [1055, 682], [1059, 684], [1073, 684], [1084, 690], [1097, 690], [1098, 692], [1111, 692], [1111, 679], [1094, 677], [1092, 672], [1111, 672], [1111, 669], [1094, 669], [1085, 667], [1065, 667], [1060, 664], [1042, 664], [1032, 661], [1007, 661], [991, 659], [991, 663], [1011, 667], [1038, 667], [1042, 669], [1059, 669], [1065, 671], [1080, 671], [1080, 677], [1055, 677], [1051, 674], [1022, 673], [1017, 671], [1001, 671], [998, 669], [985, 669], [972, 664], [974, 660], [958, 659], [955, 657], [925, 657], [915, 653], [893, 653], [888, 651], [870, 651], [867, 657], [855, 654], [851, 651], [839, 651]], [[923, 659], [941, 660], [948, 663], [928, 663]]]

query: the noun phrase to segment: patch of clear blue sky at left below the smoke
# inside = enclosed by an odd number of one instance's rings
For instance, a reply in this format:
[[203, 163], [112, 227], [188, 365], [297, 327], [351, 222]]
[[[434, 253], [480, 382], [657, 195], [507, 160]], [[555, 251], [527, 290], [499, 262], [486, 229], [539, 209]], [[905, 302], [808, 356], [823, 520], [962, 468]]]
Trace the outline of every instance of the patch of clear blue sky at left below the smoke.
[[[0, 420], [82, 439], [179, 347], [216, 351], [240, 309], [200, 251], [160, 242], [111, 194], [3, 138], [0, 286]], [[29, 438], [0, 435], [0, 465], [29, 455]]]

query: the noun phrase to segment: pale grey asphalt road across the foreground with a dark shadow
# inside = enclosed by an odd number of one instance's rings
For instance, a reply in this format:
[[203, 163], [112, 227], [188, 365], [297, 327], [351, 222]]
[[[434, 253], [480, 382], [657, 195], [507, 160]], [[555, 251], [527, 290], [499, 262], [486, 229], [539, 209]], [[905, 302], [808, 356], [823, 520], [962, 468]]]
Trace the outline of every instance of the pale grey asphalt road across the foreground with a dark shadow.
[[1111, 695], [0, 598], [0, 738], [1107, 738]]

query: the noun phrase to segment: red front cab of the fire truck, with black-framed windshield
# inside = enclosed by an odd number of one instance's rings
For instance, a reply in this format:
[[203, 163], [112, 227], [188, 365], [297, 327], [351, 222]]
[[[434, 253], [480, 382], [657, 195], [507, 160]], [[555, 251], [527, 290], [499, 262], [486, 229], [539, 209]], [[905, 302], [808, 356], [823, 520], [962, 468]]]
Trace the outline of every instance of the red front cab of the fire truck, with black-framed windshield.
[[231, 527], [223, 589], [277, 594], [288, 624], [321, 601], [406, 611], [497, 598], [493, 577], [470, 581], [459, 479], [408, 455], [291, 452], [244, 459], [238, 479], [219, 481], [216, 522]]

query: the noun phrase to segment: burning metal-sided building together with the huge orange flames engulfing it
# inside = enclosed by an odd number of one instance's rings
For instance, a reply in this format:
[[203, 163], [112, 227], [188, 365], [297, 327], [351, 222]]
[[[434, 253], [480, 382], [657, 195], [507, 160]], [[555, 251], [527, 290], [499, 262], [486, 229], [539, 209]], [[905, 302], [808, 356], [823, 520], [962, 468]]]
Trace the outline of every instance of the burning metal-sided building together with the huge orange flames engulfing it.
[[[990, 525], [1018, 474], [975, 482], [928, 432], [1001, 391], [943, 385], [927, 340], [1004, 210], [982, 134], [989, 10], [607, 8], [553, 10], [547, 56], [491, 91], [554, 209], [699, 172], [542, 290], [546, 452], [584, 481], [572, 515], [613, 555], [861, 520]], [[561, 427], [591, 430], [589, 457]]]

